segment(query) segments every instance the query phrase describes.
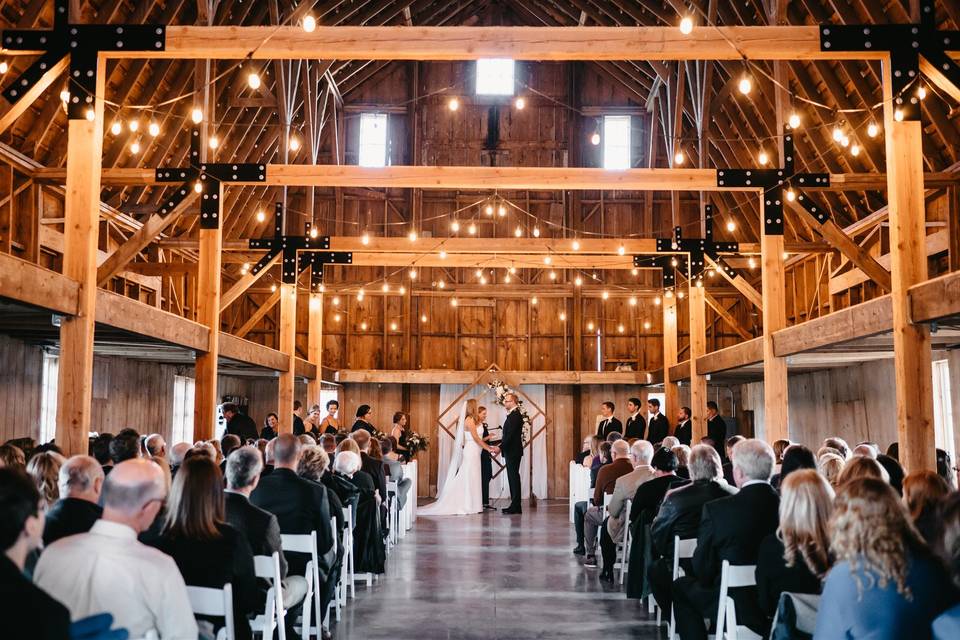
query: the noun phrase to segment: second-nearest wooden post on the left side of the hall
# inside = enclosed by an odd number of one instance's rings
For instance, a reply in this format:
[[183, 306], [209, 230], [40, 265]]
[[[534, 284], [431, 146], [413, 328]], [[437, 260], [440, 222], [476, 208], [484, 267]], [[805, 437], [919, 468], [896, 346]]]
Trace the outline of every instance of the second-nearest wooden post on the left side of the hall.
[[[220, 189], [223, 201], [223, 188]], [[193, 439], [216, 436], [217, 361], [220, 358], [220, 269], [223, 238], [219, 228], [200, 229], [200, 264], [197, 268], [197, 322], [210, 331], [204, 353], [195, 365], [196, 391], [193, 403]]]

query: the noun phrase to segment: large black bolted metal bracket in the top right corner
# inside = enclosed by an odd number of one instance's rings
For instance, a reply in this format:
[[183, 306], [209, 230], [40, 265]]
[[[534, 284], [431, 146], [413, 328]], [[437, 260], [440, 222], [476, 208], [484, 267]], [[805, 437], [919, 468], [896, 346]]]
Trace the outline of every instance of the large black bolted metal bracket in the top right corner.
[[[960, 88], [960, 65], [948, 51], [960, 49], [960, 31], [937, 29], [934, 0], [920, 0], [920, 22], [913, 24], [820, 25], [821, 51], [885, 51], [890, 54], [893, 99], [904, 120], [920, 119], [920, 101], [907, 95], [920, 76], [920, 59]], [[960, 89], [958, 89], [960, 90]]]

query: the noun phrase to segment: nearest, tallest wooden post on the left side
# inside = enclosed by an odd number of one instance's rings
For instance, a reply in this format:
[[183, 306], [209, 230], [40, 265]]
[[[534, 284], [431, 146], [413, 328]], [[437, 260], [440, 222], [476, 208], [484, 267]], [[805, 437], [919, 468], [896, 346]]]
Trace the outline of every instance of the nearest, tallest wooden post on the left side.
[[97, 65], [93, 120], [71, 119], [67, 129], [63, 275], [80, 283], [80, 295], [77, 315], [64, 316], [60, 324], [56, 441], [66, 456], [87, 453], [92, 426], [105, 66]]

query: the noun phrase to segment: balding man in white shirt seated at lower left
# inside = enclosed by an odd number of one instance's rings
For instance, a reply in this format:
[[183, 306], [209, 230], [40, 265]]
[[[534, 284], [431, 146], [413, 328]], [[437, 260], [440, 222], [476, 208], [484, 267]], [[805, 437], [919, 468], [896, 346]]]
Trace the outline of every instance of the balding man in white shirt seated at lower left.
[[103, 486], [103, 517], [89, 533], [58, 540], [43, 552], [37, 586], [77, 620], [113, 614], [131, 638], [197, 637], [187, 589], [173, 559], [137, 541], [166, 497], [163, 472], [145, 459], [115, 466]]

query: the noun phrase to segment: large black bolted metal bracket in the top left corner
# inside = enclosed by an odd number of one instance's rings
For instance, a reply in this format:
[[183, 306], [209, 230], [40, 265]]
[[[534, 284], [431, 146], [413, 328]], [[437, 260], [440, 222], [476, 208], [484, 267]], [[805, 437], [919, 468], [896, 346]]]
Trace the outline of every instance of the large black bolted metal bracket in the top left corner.
[[4, 49], [41, 51], [40, 59], [3, 91], [16, 103], [65, 56], [70, 56], [70, 99], [67, 117], [83, 120], [94, 105], [97, 63], [102, 51], [163, 51], [166, 25], [70, 24], [69, 0], [54, 0], [52, 29], [5, 29], [0, 36]]

